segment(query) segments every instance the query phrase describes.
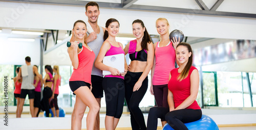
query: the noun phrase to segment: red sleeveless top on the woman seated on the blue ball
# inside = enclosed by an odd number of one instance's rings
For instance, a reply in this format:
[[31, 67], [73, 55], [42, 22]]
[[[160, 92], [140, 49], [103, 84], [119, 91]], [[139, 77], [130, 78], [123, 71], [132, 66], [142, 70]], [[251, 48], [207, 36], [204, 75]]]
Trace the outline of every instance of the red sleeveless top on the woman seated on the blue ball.
[[[172, 75], [172, 77], [170, 78], [170, 81], [168, 83], [168, 89], [173, 93], [174, 96], [175, 108], [178, 107], [190, 95], [190, 75], [193, 72], [193, 70], [197, 70], [196, 67], [191, 66], [189, 69], [188, 76], [185, 79], [178, 81], [177, 78], [180, 75], [178, 69], [179, 68], [176, 68], [170, 71], [170, 75]], [[201, 109], [201, 107], [195, 100], [191, 105], [186, 107], [186, 109], [197, 110]]]

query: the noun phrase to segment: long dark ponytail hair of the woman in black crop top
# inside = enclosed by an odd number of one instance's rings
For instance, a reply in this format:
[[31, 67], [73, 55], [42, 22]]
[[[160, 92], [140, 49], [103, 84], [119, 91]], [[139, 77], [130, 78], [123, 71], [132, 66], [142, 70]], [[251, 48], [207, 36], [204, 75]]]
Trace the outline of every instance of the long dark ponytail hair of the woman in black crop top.
[[[134, 23], [140, 23], [140, 25], [142, 26], [142, 28], [145, 28], [144, 35], [143, 35], [143, 38], [142, 38], [142, 41], [141, 41], [140, 46], [141, 46], [141, 49], [147, 50], [147, 44], [150, 43], [150, 42], [152, 42], [152, 41], [151, 41], [150, 34], [148, 34], [148, 32], [146, 31], [146, 27], [144, 26], [144, 23], [143, 23], [142, 20], [136, 19], [136, 20], [133, 21], [133, 24], [134, 24]], [[132, 24], [132, 25], [133, 25], [133, 24]]]

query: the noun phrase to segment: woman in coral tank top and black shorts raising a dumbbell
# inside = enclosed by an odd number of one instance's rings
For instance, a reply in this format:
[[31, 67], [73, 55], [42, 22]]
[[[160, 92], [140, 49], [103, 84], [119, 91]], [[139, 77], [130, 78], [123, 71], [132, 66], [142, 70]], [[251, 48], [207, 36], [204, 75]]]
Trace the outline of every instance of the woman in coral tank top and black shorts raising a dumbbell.
[[[86, 107], [90, 108], [87, 116], [87, 129], [94, 128], [99, 104], [93, 96], [91, 90], [91, 72], [95, 58], [94, 52], [84, 43], [87, 28], [86, 23], [82, 20], [77, 20], [74, 23], [73, 30], [75, 41], [71, 41], [71, 46], [68, 48], [68, 53], [74, 71], [70, 77], [69, 85], [71, 91], [76, 94], [75, 112], [72, 123], [72, 129], [81, 129], [81, 121]], [[78, 43], [82, 43], [82, 48], [78, 48]]]

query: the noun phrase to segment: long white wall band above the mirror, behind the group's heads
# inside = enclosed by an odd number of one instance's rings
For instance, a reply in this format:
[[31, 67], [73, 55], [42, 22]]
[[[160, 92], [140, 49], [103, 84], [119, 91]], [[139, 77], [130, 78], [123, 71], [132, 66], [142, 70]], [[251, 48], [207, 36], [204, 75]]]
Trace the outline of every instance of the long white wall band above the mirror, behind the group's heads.
[[[254, 2], [256, 3], [256, 2]], [[75, 20], [86, 20], [84, 6], [0, 2], [0, 27], [71, 30]], [[256, 39], [256, 19], [100, 8], [99, 25], [109, 18], [120, 22], [120, 33], [132, 33], [132, 21], [139, 18], [150, 34], [157, 34], [155, 21], [165, 17], [171, 30], [180, 29], [185, 36], [230, 39]]]

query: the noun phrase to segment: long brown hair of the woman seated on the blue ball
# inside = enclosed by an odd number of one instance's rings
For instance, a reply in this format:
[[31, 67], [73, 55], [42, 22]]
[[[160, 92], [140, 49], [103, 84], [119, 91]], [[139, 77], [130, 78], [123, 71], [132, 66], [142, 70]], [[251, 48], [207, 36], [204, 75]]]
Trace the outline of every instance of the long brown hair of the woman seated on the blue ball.
[[179, 43], [176, 48], [178, 48], [179, 46], [184, 46], [187, 48], [188, 53], [191, 52], [191, 55], [190, 55], [190, 57], [188, 57], [188, 61], [187, 61], [185, 68], [182, 70], [179, 77], [177, 78], [179, 81], [181, 81], [188, 76], [190, 67], [192, 66], [192, 63], [193, 63], [193, 52], [192, 52], [191, 46], [189, 44], [187, 44], [186, 42]]

